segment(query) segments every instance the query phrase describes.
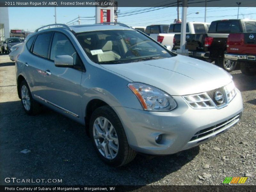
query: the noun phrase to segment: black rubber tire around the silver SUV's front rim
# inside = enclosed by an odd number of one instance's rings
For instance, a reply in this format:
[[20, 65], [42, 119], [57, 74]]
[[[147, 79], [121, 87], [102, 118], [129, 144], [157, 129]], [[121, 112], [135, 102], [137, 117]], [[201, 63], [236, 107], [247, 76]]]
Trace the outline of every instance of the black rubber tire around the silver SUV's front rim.
[[[115, 130], [116, 130], [116, 134], [117, 134], [117, 138], [118, 138], [118, 152], [117, 155], [114, 159], [107, 159], [104, 156], [102, 156], [102, 154], [99, 152], [94, 138], [93, 138], [93, 124], [94, 121], [98, 118], [98, 117], [105, 117], [108, 119], [108, 121], [114, 126]], [[93, 146], [96, 150], [96, 153], [98, 154], [98, 156], [100, 157], [101, 160], [103, 160], [105, 163], [111, 165], [111, 166], [119, 166], [122, 164], [122, 162], [124, 161], [124, 140], [127, 140], [125, 133], [124, 133], [124, 128], [121, 124], [120, 119], [118, 118], [118, 116], [116, 115], [116, 113], [114, 112], [113, 109], [111, 109], [108, 106], [103, 106], [100, 108], [97, 108], [91, 116], [90, 119], [90, 127], [89, 127], [89, 131], [90, 131], [90, 136], [92, 138], [92, 142], [93, 142]]]

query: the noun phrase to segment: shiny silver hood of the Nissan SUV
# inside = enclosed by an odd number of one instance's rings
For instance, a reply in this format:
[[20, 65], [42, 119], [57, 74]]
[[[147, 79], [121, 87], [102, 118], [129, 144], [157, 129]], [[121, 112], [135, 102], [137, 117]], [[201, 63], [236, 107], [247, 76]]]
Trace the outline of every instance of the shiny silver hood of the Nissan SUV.
[[171, 95], [206, 92], [232, 81], [231, 76], [220, 67], [182, 55], [101, 66], [133, 82], [155, 86]]

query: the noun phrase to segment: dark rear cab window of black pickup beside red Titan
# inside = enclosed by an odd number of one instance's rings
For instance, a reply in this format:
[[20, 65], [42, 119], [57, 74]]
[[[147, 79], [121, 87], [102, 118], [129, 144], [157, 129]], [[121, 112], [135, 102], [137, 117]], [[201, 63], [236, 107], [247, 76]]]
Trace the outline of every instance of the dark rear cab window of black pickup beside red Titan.
[[239, 33], [241, 32], [238, 20], [212, 22], [208, 33]]

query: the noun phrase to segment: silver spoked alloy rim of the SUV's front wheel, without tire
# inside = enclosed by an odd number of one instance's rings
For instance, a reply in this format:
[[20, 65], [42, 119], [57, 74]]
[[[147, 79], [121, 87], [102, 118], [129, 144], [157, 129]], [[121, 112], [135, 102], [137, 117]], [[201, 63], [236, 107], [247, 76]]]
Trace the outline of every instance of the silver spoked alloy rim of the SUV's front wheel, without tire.
[[102, 156], [114, 159], [118, 153], [118, 138], [114, 126], [105, 117], [98, 117], [93, 124], [93, 139]]

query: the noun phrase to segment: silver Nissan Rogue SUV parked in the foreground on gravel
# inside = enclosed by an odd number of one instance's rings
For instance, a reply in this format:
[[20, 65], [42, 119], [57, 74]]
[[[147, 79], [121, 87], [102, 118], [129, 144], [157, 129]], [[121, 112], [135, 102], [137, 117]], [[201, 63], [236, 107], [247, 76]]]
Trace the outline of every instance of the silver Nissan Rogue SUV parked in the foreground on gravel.
[[22, 106], [85, 125], [107, 164], [195, 147], [241, 118], [241, 93], [221, 68], [121, 24], [58, 26], [37, 29], [16, 60]]

